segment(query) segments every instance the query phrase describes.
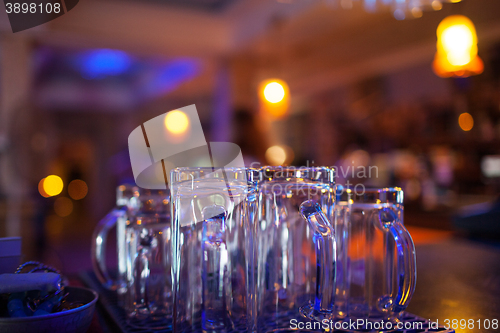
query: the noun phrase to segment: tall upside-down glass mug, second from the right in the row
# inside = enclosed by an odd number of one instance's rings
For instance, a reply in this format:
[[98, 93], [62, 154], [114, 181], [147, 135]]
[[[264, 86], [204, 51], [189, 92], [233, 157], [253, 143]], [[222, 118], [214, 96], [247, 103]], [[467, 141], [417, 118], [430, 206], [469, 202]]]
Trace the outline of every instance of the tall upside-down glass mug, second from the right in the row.
[[[318, 203], [323, 217], [308, 200]], [[307, 208], [307, 207], [306, 207]], [[263, 167], [254, 217], [252, 330], [289, 329], [290, 320], [332, 319], [335, 297], [334, 170]], [[301, 212], [302, 210], [302, 212]], [[304, 218], [301, 216], [303, 214]], [[305, 213], [305, 214], [304, 214]]]

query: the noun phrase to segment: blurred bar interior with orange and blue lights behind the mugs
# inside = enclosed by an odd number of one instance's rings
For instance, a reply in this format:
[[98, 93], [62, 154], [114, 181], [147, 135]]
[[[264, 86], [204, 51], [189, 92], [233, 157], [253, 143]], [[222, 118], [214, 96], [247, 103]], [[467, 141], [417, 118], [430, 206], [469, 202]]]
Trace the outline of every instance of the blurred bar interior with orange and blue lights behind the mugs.
[[[206, 140], [237, 143], [247, 164], [402, 187], [417, 243], [494, 242], [500, 1], [448, 2], [86, 0], [16, 34], [0, 11], [0, 237], [90, 269], [92, 231], [133, 183], [128, 135], [196, 104]], [[449, 15], [474, 23], [482, 74], [433, 70]], [[272, 79], [285, 96], [270, 105]]]

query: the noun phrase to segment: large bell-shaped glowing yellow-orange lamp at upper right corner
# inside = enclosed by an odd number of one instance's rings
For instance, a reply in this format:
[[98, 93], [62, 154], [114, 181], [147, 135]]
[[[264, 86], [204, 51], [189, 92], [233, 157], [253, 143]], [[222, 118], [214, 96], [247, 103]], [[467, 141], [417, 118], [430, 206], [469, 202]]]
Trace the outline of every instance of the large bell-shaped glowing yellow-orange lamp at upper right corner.
[[477, 55], [477, 35], [467, 17], [446, 17], [437, 28], [434, 72], [440, 77], [467, 77], [481, 74], [483, 61]]

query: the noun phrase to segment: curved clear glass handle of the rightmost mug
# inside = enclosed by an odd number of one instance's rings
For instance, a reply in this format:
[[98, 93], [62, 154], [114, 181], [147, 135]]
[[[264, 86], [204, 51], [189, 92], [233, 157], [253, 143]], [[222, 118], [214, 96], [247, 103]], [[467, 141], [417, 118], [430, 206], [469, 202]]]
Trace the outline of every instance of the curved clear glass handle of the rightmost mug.
[[396, 212], [390, 208], [379, 211], [379, 219], [396, 243], [396, 294], [395, 297], [379, 300], [382, 311], [390, 310], [398, 314], [406, 309], [415, 291], [417, 283], [417, 259], [415, 245], [410, 233], [399, 220]]

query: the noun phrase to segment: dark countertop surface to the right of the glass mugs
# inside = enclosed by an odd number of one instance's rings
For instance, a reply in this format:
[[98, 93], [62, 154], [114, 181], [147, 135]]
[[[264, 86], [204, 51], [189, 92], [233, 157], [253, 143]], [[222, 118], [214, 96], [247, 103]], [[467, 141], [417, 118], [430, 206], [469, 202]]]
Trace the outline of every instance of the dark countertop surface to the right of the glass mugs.
[[417, 287], [408, 312], [431, 320], [500, 320], [500, 246], [451, 238], [416, 245]]

